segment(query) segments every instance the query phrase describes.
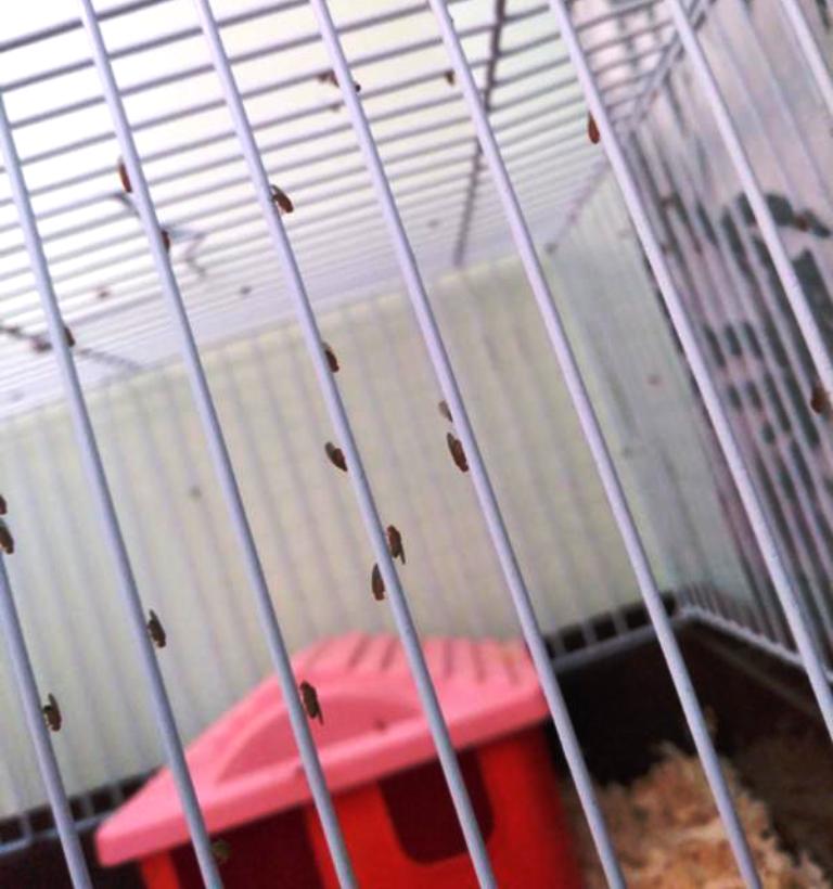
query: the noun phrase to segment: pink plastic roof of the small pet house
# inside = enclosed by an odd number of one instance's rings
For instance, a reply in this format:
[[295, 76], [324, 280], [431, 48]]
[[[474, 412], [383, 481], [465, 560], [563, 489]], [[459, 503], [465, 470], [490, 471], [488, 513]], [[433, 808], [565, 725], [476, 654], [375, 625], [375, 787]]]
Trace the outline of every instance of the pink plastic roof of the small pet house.
[[[470, 747], [547, 713], [522, 642], [427, 639], [425, 657], [451, 739]], [[311, 722], [332, 791], [435, 756], [399, 640], [349, 633], [293, 658], [318, 692], [324, 724]], [[310, 793], [277, 680], [265, 680], [187, 750], [210, 833], [306, 803]], [[174, 782], [159, 771], [97, 834], [99, 859], [118, 864], [188, 842]]]

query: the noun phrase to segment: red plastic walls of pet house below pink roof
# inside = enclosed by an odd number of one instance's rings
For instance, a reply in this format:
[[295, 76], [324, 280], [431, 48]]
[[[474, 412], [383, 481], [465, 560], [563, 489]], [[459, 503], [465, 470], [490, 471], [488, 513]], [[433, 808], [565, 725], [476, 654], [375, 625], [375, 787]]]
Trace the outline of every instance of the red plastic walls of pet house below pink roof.
[[[460, 763], [501, 887], [580, 889], [581, 878], [540, 729], [466, 750]], [[360, 886], [473, 889], [477, 886], [436, 762], [336, 794], [334, 803]], [[222, 835], [227, 889], [337, 889], [312, 806]], [[149, 889], [202, 886], [190, 847], [140, 863]]]

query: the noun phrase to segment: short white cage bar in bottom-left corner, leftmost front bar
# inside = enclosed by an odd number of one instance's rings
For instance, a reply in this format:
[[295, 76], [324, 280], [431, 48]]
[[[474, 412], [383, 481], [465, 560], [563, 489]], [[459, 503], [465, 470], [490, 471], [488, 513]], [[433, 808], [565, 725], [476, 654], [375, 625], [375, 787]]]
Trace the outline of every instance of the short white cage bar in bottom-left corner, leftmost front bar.
[[64, 858], [66, 859], [66, 866], [69, 868], [73, 886], [76, 889], [92, 889], [92, 880], [87, 869], [87, 862], [84, 860], [81, 843], [78, 841], [78, 834], [75, 830], [73, 812], [61, 781], [61, 772], [49, 739], [49, 731], [43, 722], [38, 684], [35, 681], [29, 654], [26, 650], [26, 642], [23, 637], [21, 621], [17, 617], [17, 609], [14, 605], [12, 588], [9, 583], [9, 575], [5, 571], [5, 562], [2, 556], [0, 556], [0, 623], [2, 623], [3, 641], [9, 652], [9, 658], [12, 661], [17, 694], [21, 698], [21, 708], [26, 719], [29, 738], [35, 748], [35, 756], [38, 759], [38, 766], [49, 797], [49, 804], [55, 820], [57, 835], [61, 838], [61, 847], [64, 850]]

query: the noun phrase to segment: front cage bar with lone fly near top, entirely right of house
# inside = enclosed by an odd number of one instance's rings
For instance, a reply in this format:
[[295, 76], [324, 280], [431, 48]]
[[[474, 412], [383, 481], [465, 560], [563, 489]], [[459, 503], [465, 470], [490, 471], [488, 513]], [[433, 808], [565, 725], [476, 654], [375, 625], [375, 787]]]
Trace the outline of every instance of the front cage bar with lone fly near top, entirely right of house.
[[[778, 549], [769, 519], [755, 490], [748, 468], [741, 455], [729, 417], [720, 403], [720, 398], [712, 381], [708, 365], [697, 344], [682, 298], [674, 283], [670, 269], [649, 220], [645, 205], [625, 157], [618, 134], [611, 123], [595, 85], [592, 70], [587, 63], [584, 50], [576, 36], [569, 13], [563, 0], [550, 0], [550, 5], [558, 18], [561, 38], [567, 47], [590, 111], [595, 117], [602, 137], [602, 144], [616, 175], [616, 180], [621, 190], [628, 211], [630, 212], [631, 220], [651, 263], [666, 309], [671, 318], [691, 372], [708, 411], [715, 433], [726, 455], [732, 478], [738, 487], [746, 514], [755, 531], [756, 540], [758, 541], [758, 545], [760, 546], [760, 551], [776, 585], [781, 607], [784, 610], [790, 630], [807, 669], [810, 684], [819, 701], [819, 709], [824, 719], [824, 724], [828, 727], [828, 732], [833, 736], [833, 694], [831, 694], [830, 686], [828, 685], [822, 661], [816, 648], [806, 615], [792, 590], [789, 574]], [[706, 739], [707, 738], [708, 735], [706, 735]], [[754, 868], [752, 869], [752, 876], [754, 876]], [[757, 879], [757, 877], [755, 877], [755, 879]]]

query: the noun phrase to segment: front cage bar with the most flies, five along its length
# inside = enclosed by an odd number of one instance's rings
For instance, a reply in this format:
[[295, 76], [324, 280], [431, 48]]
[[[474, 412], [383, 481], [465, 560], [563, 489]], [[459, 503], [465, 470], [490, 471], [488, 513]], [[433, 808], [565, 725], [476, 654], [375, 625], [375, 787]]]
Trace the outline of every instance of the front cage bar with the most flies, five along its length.
[[[399, 578], [387, 547], [387, 541], [353, 436], [353, 430], [338, 388], [335, 385], [335, 381], [326, 363], [326, 357], [321, 346], [318, 323], [304, 287], [295, 255], [292, 252], [286, 232], [280, 221], [278, 208], [272, 202], [269, 181], [266, 177], [266, 170], [260, 159], [246, 111], [243, 106], [243, 100], [241, 99], [238, 85], [234, 80], [234, 75], [232, 74], [228, 56], [226, 55], [226, 49], [222, 44], [208, 0], [194, 0], [194, 4], [203, 33], [210, 49], [215, 69], [222, 85], [226, 103], [232, 115], [234, 129], [248, 166], [249, 177], [255, 186], [264, 218], [269, 229], [273, 246], [286, 273], [292, 300], [298, 315], [307, 349], [318, 375], [322, 395], [329, 409], [330, 418], [335, 426], [339, 445], [346, 455], [349, 476], [359, 501], [364, 526], [373, 544], [376, 562], [390, 601], [394, 619], [396, 620], [399, 635], [402, 640], [411, 673], [416, 683], [423, 710], [431, 726], [434, 744], [437, 748], [440, 765], [443, 766], [448, 783], [466, 846], [472, 855], [480, 884], [483, 886], [492, 887], [496, 884], [495, 877], [491, 874], [486, 846], [480, 835], [465, 784], [463, 783], [460, 765], [448, 734], [448, 726], [446, 725], [439, 707], [436, 690], [431, 680], [416, 628], [411, 618], [408, 601], [399, 583]], [[355, 95], [353, 80], [349, 81], [348, 86], [348, 94]]]

